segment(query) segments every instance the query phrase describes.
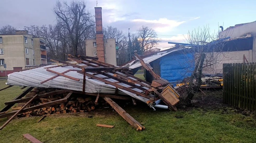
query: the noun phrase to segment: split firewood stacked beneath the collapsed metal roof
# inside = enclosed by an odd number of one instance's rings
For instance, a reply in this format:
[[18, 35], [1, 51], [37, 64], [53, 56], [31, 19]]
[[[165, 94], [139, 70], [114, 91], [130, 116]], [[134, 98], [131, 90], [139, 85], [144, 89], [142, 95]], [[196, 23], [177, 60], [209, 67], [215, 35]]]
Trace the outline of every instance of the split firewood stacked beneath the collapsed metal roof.
[[[46, 91], [47, 90], [47, 91]], [[43, 94], [45, 92], [53, 91], [54, 89], [40, 89], [34, 88], [31, 90], [26, 97], [35, 96], [36, 94]], [[59, 100], [64, 98], [68, 93], [59, 94], [48, 96], [45, 98], [38, 98], [35, 99], [33, 102], [30, 103], [27, 107], [36, 106], [45, 104], [48, 102], [52, 102], [55, 100]], [[92, 100], [91, 97], [72, 97], [67, 103], [57, 104], [53, 106], [48, 106], [40, 109], [35, 109], [33, 111], [24, 112], [22, 116], [42, 116], [42, 115], [51, 115], [51, 114], [61, 114], [61, 113], [76, 113], [76, 112], [89, 112], [95, 109], [95, 99]], [[23, 105], [26, 103], [18, 103], [17, 105], [12, 107], [12, 111], [19, 110], [22, 108]]]

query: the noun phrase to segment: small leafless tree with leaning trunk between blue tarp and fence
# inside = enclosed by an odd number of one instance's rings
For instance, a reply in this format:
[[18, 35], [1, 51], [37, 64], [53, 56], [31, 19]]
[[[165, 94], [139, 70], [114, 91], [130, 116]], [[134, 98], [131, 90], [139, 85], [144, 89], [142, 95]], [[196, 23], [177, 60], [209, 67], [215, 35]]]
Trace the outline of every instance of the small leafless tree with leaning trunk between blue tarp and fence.
[[222, 51], [225, 42], [219, 39], [218, 36], [216, 37], [214, 32], [211, 33], [208, 25], [188, 32], [186, 40], [191, 46], [185, 48], [184, 54], [193, 54], [193, 56], [187, 58], [187, 65], [192, 67], [193, 70], [187, 71], [191, 73], [191, 77], [185, 81], [185, 83], [189, 83], [186, 90], [186, 100], [190, 103], [194, 93], [202, 85], [203, 69], [214, 70], [213, 66], [225, 58], [225, 52]]

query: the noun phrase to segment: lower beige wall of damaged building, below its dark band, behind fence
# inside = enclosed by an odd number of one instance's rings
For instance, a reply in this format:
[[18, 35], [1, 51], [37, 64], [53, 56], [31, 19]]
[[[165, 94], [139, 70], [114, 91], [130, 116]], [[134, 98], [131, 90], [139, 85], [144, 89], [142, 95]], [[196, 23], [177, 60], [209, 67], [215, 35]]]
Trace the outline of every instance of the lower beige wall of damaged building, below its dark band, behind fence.
[[[230, 51], [230, 52], [223, 52], [223, 53], [214, 53], [214, 57], [217, 57], [217, 62], [209, 67], [203, 68], [203, 73], [209, 74], [217, 74], [223, 73], [223, 63], [243, 63], [243, 56], [247, 58], [248, 62], [252, 62], [252, 57], [250, 56], [252, 50], [244, 50], [244, 51]], [[206, 63], [205, 63], [206, 64]]]

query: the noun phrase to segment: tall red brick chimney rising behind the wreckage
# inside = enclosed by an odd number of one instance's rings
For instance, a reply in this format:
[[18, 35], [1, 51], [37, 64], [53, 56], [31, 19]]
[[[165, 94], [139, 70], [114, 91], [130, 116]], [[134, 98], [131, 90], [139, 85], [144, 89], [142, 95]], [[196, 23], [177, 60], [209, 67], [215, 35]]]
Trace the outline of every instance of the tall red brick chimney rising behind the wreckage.
[[95, 7], [96, 44], [99, 61], [105, 62], [101, 7]]

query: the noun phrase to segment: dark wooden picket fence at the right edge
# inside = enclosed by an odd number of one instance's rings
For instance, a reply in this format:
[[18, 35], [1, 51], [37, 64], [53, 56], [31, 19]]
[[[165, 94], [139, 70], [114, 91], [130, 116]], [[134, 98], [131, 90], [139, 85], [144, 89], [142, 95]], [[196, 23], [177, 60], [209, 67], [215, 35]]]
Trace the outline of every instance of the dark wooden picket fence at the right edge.
[[224, 103], [256, 110], [255, 63], [223, 64]]

